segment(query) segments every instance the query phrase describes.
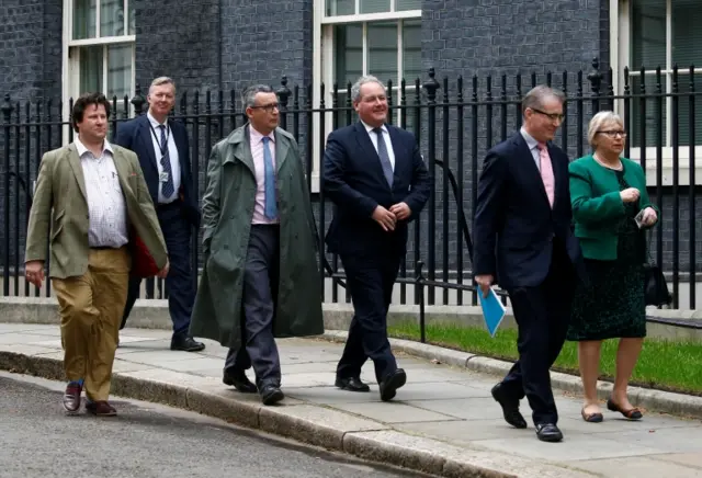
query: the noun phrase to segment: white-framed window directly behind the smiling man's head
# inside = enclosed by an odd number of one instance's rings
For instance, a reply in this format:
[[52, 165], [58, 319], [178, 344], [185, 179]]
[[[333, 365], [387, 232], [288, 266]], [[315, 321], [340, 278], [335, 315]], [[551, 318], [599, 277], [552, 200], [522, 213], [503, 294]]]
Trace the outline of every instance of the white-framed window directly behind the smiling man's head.
[[[338, 105], [348, 104], [348, 84], [362, 75], [392, 81], [392, 102], [399, 104], [400, 81], [414, 91], [421, 71], [421, 0], [316, 0], [321, 13], [321, 75], [325, 102], [331, 105], [332, 86], [338, 84]], [[318, 84], [315, 86], [318, 89]], [[352, 115], [355, 121], [355, 113]], [[337, 116], [338, 126], [348, 123]], [[401, 112], [394, 112], [400, 124]], [[407, 121], [409, 122], [409, 117]], [[409, 124], [408, 124], [409, 127]]]

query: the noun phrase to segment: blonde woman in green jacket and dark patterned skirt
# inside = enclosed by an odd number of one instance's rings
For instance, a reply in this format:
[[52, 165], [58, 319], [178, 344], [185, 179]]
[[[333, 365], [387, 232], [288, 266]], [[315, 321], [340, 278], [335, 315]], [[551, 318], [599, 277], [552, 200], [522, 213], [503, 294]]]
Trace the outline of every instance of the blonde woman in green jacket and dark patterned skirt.
[[642, 413], [629, 401], [626, 387], [646, 335], [644, 229], [658, 221], [658, 212], [648, 201], [641, 166], [620, 157], [626, 139], [621, 117], [611, 111], [596, 114], [588, 139], [595, 152], [573, 161], [569, 172], [575, 235], [590, 283], [576, 291], [567, 338], [579, 342], [582, 419], [602, 421], [597, 398], [600, 346], [602, 340], [619, 338], [607, 408], [637, 420]]

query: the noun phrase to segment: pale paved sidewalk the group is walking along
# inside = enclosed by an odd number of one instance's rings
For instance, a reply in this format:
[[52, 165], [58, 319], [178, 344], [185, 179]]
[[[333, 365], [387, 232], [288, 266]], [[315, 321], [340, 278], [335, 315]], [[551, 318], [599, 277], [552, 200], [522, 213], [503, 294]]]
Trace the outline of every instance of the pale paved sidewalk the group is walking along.
[[[123, 330], [115, 373], [125, 379], [172, 384], [259, 409], [256, 396], [238, 394], [222, 384], [224, 348], [205, 341], [207, 349], [203, 353], [191, 354], [171, 352], [169, 343], [168, 331]], [[453, 456], [466, 466], [501, 471], [495, 475], [452, 473], [444, 464], [444, 476], [702, 477], [702, 422], [697, 420], [647, 413], [641, 422], [629, 422], [605, 411], [603, 423], [585, 423], [580, 418], [580, 400], [558, 392], [558, 424], [565, 440], [558, 444], [542, 443], [536, 440], [533, 426], [514, 430], [503, 422], [500, 408], [489, 395], [496, 377], [400, 354], [399, 366], [407, 371], [408, 383], [398, 390], [394, 401], [386, 403], [380, 400], [370, 363], [362, 375], [373, 384], [370, 394], [333, 387], [341, 344], [286, 339], [280, 340], [279, 346], [286, 399], [280, 407], [260, 408], [257, 423], [267, 431], [279, 431], [274, 423], [276, 417], [294, 417], [307, 423], [306, 433], [319, 424], [327, 430], [319, 433], [340, 430], [358, 440], [375, 441], [378, 449], [385, 442], [393, 442], [396, 447], [421, 448], [427, 456]], [[2, 352], [60, 361], [59, 328], [0, 323]], [[189, 395], [191, 407], [193, 397]], [[178, 402], [176, 398], [173, 401]], [[525, 401], [522, 411], [531, 422]], [[57, 413], [60, 413], [58, 405]], [[231, 418], [240, 423], [247, 420], [247, 417]], [[268, 420], [271, 422], [264, 426]], [[315, 421], [312, 425], [308, 423]], [[295, 432], [280, 432], [296, 436]], [[353, 448], [344, 442], [343, 449], [349, 447]], [[385, 459], [380, 452], [355, 454]], [[428, 469], [412, 459], [401, 465]]]

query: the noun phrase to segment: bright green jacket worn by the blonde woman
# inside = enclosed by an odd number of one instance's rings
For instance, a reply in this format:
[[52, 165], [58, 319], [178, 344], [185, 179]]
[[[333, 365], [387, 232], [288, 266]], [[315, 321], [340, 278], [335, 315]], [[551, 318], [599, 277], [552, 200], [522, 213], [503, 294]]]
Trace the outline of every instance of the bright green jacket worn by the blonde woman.
[[[638, 208], [653, 207], [646, 192], [644, 170], [636, 162], [622, 158], [624, 180], [636, 187], [641, 195]], [[568, 167], [570, 173], [570, 204], [575, 219], [575, 235], [580, 241], [586, 259], [601, 261], [616, 259], [620, 219], [624, 216], [624, 203], [620, 196], [616, 172], [598, 163], [592, 155], [576, 159]]]

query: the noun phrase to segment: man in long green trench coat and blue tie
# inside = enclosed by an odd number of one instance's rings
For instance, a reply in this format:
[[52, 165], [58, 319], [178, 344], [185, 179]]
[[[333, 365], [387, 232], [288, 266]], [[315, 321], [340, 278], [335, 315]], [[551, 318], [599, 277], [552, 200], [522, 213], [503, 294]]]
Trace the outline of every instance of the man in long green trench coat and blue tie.
[[[284, 398], [274, 338], [324, 332], [315, 223], [297, 143], [275, 92], [244, 93], [249, 123], [212, 150], [203, 197], [204, 271], [190, 333], [229, 348], [223, 382]], [[256, 384], [245, 371], [253, 366]]]

